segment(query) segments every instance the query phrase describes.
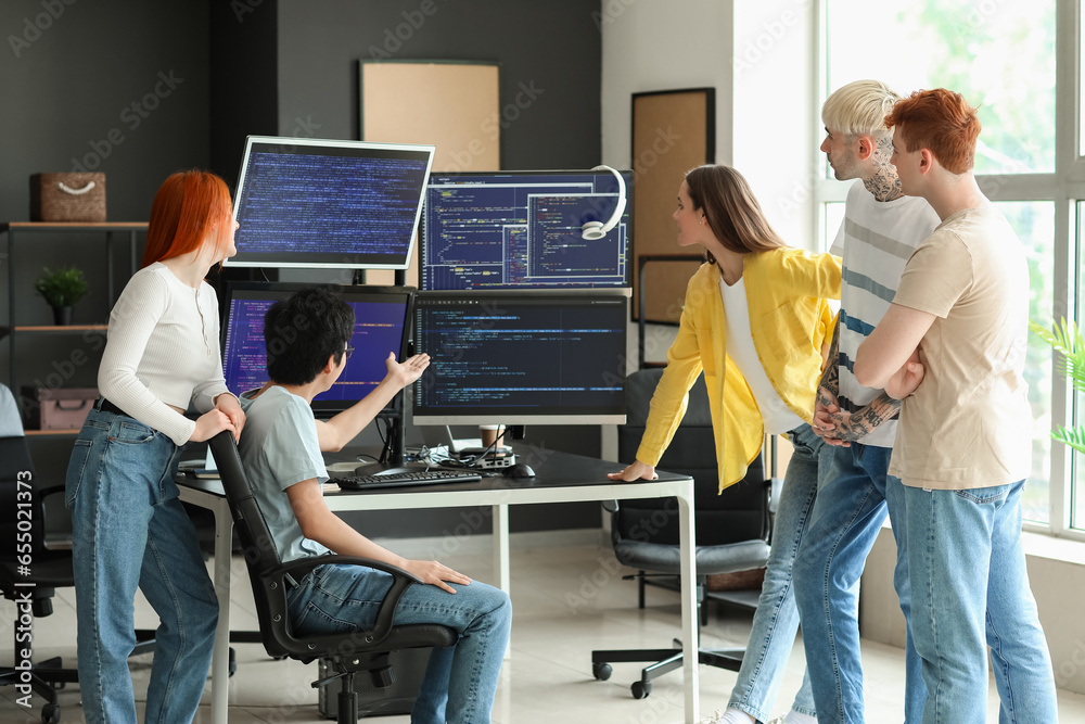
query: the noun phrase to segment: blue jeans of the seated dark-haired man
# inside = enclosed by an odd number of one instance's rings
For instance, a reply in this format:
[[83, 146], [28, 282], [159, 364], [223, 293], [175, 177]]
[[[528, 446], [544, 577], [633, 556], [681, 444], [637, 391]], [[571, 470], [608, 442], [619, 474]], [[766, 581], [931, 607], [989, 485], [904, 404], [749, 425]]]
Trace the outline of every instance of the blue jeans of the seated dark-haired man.
[[[497, 679], [512, 626], [512, 602], [499, 588], [472, 582], [437, 586], [414, 584], [396, 607], [397, 625], [438, 623], [455, 628], [459, 640], [430, 655], [412, 724], [488, 722]], [[350, 632], [372, 624], [392, 576], [358, 566], [320, 566], [288, 594], [294, 630], [309, 635]]]

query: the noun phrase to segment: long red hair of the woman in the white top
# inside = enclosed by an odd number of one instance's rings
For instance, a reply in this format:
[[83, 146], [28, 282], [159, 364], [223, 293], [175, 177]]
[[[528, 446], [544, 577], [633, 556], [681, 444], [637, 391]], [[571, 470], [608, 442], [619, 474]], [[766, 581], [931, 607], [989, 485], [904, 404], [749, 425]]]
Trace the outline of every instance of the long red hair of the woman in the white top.
[[208, 238], [221, 244], [232, 223], [226, 181], [210, 172], [178, 172], [154, 194], [140, 268], [197, 250]]

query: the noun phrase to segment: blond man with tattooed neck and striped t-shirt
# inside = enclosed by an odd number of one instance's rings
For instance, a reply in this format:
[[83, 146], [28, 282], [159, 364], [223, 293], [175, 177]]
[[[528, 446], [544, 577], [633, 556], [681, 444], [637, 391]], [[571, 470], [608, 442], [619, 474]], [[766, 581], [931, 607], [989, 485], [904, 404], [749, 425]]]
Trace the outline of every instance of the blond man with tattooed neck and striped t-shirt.
[[[856, 80], [821, 109], [821, 151], [837, 179], [858, 180], [848, 189], [831, 249], [843, 257], [841, 309], [814, 419], [815, 432], [837, 447], [819, 470], [817, 501], [794, 567], [819, 724], [865, 721], [857, 584], [886, 512], [897, 543], [893, 583], [905, 621], [909, 615], [904, 486], [886, 473], [901, 403], [852, 373], [855, 353], [889, 309], [908, 257], [939, 224], [930, 204], [901, 192], [890, 164], [885, 116], [899, 98], [884, 82]], [[905, 659], [905, 721], [919, 722], [927, 693], [910, 627]]]

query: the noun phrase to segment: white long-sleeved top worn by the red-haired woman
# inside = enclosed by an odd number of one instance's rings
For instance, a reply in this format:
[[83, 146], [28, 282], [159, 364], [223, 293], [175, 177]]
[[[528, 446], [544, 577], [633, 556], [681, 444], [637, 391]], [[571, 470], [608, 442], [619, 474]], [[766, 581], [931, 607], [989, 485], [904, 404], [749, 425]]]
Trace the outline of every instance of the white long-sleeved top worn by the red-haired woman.
[[195, 421], [170, 409], [192, 401], [206, 412], [229, 392], [218, 342], [218, 300], [210, 284], [189, 287], [164, 264], [137, 271], [113, 312], [98, 390], [143, 424], [183, 445]]

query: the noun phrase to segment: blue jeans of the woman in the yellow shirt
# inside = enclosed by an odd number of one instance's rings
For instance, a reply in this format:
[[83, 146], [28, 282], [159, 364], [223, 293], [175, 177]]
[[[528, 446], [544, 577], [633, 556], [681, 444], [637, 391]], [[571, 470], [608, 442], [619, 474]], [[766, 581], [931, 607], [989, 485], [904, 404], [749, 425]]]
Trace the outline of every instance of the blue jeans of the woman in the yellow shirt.
[[[783, 477], [783, 492], [773, 523], [773, 549], [768, 555], [757, 611], [753, 615], [753, 631], [750, 632], [742, 668], [727, 704], [761, 721], [769, 716], [783, 669], [795, 645], [799, 609], [795, 608], [791, 570], [814, 508], [818, 457], [826, 447], [805, 423], [789, 432], [788, 439], [795, 450]], [[803, 676], [792, 709], [801, 714], [815, 715], [808, 671]]]

